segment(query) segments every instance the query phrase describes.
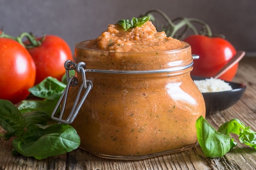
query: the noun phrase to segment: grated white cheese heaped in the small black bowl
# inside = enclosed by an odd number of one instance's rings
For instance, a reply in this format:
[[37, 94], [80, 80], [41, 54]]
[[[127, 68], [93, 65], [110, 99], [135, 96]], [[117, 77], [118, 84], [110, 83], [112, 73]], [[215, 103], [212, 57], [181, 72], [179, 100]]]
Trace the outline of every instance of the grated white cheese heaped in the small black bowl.
[[201, 91], [201, 93], [209, 93], [209, 92], [219, 92], [219, 91], [230, 91], [232, 87], [229, 83], [224, 82], [221, 79], [203, 79], [203, 80], [194, 80], [195, 85]]

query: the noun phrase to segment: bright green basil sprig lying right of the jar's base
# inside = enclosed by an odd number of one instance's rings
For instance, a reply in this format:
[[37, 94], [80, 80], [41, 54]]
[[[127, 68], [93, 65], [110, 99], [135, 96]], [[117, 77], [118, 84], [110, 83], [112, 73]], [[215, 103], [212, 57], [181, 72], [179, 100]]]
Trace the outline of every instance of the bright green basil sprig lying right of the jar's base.
[[217, 158], [224, 156], [236, 142], [230, 133], [239, 135], [239, 141], [256, 149], [256, 132], [245, 127], [239, 119], [231, 119], [222, 124], [218, 131], [212, 127], [203, 116], [196, 122], [198, 143], [205, 156]]

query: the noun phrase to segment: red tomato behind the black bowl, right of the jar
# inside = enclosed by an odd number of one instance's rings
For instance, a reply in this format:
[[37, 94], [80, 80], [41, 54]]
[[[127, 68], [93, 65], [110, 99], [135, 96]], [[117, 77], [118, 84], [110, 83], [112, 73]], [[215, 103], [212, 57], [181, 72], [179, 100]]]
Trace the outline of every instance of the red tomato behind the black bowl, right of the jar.
[[[191, 75], [213, 77], [236, 55], [236, 49], [230, 42], [220, 37], [192, 35], [185, 42], [191, 45], [192, 54], [199, 55], [194, 60]], [[236, 75], [238, 63], [224, 73], [219, 79], [231, 81]]]

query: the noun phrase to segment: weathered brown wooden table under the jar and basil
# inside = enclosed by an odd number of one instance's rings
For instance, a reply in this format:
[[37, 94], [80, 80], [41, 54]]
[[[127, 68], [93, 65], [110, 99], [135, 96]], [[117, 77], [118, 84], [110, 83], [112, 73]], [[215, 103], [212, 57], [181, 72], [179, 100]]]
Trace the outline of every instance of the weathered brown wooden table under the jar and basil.
[[[225, 111], [207, 116], [215, 128], [237, 118], [256, 131], [256, 57], [244, 57], [233, 82], [244, 83], [247, 90], [241, 100]], [[256, 150], [240, 144], [221, 158], [204, 156], [196, 144], [190, 150], [139, 161], [102, 159], [77, 149], [43, 160], [13, 156], [11, 141], [0, 139], [0, 170], [252, 170], [256, 169]]]

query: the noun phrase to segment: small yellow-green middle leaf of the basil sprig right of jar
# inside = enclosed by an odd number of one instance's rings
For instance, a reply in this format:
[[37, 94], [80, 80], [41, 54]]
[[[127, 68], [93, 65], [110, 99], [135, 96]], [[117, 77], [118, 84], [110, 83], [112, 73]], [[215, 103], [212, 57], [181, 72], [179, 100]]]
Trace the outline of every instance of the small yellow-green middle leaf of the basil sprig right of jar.
[[244, 124], [239, 119], [231, 119], [228, 122], [225, 122], [218, 128], [218, 132], [223, 133], [224, 135], [230, 136], [230, 133], [235, 133], [239, 135], [240, 129], [244, 129]]

